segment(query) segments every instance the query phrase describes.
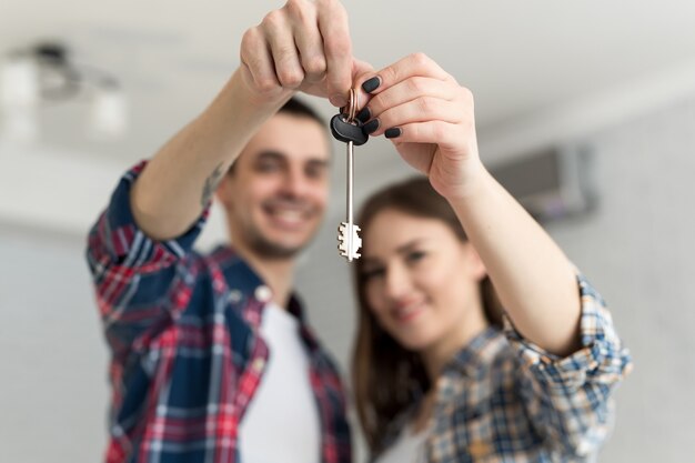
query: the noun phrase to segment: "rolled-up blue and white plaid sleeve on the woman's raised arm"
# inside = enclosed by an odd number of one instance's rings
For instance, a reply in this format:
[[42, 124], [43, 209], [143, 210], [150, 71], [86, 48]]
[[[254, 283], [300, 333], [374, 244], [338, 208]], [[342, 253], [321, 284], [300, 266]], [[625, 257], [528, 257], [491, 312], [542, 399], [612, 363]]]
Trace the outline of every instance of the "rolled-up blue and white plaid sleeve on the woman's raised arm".
[[505, 318], [505, 332], [517, 351], [521, 394], [534, 427], [562, 454], [594, 454], [613, 425], [612, 392], [632, 370], [611, 313], [581, 274], [582, 348], [560, 358], [525, 340]]

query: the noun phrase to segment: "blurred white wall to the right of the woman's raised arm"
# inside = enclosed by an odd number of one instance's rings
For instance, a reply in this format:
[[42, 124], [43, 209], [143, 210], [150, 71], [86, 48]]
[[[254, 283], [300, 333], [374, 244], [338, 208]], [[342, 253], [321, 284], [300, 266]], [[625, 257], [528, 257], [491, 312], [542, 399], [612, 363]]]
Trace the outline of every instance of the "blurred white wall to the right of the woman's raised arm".
[[592, 140], [596, 214], [550, 232], [605, 296], [635, 370], [602, 461], [689, 462], [695, 436], [695, 99]]

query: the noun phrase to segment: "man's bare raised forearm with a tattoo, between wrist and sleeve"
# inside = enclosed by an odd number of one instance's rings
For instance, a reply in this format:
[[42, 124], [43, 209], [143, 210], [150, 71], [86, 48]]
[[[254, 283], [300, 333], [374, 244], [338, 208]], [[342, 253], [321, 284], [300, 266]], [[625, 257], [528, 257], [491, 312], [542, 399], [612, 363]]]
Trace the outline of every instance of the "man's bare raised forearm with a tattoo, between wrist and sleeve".
[[131, 208], [138, 225], [157, 240], [185, 232], [244, 145], [284, 100], [253, 101], [238, 70], [205, 111], [164, 144], [137, 180]]

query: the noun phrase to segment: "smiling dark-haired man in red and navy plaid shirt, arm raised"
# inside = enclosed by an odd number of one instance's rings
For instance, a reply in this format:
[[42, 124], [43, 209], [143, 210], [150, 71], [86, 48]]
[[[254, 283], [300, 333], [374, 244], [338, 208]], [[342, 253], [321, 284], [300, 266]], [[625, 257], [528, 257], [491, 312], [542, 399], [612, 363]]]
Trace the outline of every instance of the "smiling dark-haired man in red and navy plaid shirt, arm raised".
[[[125, 174], [90, 233], [112, 351], [108, 462], [351, 460], [340, 380], [292, 295], [294, 258], [326, 205], [329, 140], [290, 98], [342, 105], [371, 68], [332, 0], [270, 12], [241, 61], [200, 117]], [[200, 255], [215, 191], [233, 249]]]

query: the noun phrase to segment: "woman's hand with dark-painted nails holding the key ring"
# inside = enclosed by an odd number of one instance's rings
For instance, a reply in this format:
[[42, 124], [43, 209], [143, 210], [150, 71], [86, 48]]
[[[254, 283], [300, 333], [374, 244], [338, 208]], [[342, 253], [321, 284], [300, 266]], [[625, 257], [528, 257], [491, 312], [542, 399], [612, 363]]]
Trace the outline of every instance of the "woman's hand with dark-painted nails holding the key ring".
[[391, 139], [401, 157], [427, 174], [444, 197], [480, 172], [473, 95], [422, 53], [365, 77], [371, 100], [363, 131]]

